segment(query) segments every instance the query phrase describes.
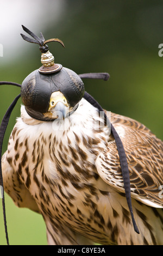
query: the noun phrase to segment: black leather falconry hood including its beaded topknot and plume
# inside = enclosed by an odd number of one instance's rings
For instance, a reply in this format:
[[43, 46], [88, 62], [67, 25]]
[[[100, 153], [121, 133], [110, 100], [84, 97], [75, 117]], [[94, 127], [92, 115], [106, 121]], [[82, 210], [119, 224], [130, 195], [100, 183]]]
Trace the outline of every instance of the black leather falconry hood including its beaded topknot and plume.
[[54, 57], [49, 52], [46, 43], [57, 41], [64, 46], [61, 40], [54, 38], [45, 41], [42, 33], [39, 38], [26, 27], [22, 27], [34, 39], [21, 34], [22, 38], [40, 45], [41, 62], [43, 64], [40, 69], [33, 71], [22, 82], [22, 102], [31, 117], [46, 121], [48, 118], [44, 117], [42, 113], [46, 113], [48, 110], [51, 94], [59, 90], [66, 97], [68, 104], [74, 107], [84, 96], [84, 83], [74, 71], [62, 68], [61, 64], [54, 63]]

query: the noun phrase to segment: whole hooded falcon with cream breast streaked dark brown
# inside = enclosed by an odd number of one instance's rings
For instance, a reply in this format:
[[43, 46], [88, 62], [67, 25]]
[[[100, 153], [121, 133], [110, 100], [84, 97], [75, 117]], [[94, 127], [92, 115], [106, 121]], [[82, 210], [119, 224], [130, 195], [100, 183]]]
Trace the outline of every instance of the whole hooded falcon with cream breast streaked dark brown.
[[67, 68], [42, 71], [21, 86], [21, 117], [2, 157], [5, 192], [42, 215], [48, 245], [162, 245], [163, 142], [136, 120], [108, 115], [126, 152], [137, 234], [115, 137], [82, 79]]

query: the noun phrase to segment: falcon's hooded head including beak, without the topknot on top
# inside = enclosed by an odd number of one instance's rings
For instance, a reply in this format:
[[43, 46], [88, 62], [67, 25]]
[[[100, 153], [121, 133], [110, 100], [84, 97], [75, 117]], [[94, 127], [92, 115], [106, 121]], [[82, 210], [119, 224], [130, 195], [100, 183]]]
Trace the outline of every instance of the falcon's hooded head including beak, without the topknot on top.
[[48, 75], [35, 70], [24, 79], [21, 87], [27, 113], [43, 121], [67, 117], [77, 109], [83, 96], [83, 81], [67, 68]]

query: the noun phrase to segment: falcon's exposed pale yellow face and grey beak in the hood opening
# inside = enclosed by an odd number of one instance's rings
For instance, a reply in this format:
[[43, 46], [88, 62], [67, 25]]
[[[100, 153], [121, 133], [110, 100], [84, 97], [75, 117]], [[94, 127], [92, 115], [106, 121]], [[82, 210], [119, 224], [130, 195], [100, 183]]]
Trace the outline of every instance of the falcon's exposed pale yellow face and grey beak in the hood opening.
[[48, 112], [52, 113], [53, 118], [65, 119], [68, 109], [65, 96], [59, 91], [52, 93]]

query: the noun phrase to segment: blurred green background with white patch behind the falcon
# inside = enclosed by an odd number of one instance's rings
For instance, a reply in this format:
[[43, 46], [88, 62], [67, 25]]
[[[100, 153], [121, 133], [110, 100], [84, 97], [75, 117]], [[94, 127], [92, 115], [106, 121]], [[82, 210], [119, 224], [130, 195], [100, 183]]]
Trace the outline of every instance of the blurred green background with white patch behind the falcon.
[[[163, 139], [163, 58], [158, 55], [158, 46], [163, 44], [161, 0], [7, 0], [1, 3], [1, 18], [0, 81], [22, 83], [41, 66], [39, 47], [20, 36], [23, 24], [38, 35], [41, 31], [45, 39], [64, 41], [65, 49], [49, 44], [56, 63], [77, 74], [109, 72], [108, 82], [84, 80], [86, 91], [103, 108], [139, 120]], [[18, 93], [19, 88], [1, 86], [1, 120]], [[21, 100], [11, 114], [3, 153], [20, 105]], [[6, 194], [5, 205], [11, 245], [47, 244], [39, 214], [18, 209]], [[0, 245], [5, 244], [0, 206]]]

